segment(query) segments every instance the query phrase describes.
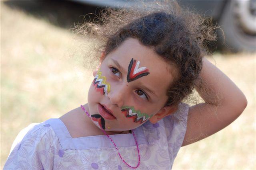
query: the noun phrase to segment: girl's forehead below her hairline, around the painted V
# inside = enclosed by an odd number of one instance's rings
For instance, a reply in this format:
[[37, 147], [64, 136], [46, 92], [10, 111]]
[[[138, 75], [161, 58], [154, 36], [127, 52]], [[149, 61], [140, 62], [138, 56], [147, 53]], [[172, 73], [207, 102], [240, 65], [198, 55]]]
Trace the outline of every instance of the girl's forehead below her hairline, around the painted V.
[[[137, 39], [127, 39], [116, 50], [112, 51], [106, 57], [108, 64], [114, 64], [122, 72], [124, 77], [131, 74], [133, 62], [133, 73], [149, 72], [146, 76], [133, 81], [136, 84], [146, 84], [155, 91], [162, 91], [166, 94], [166, 90], [173, 81], [171, 66], [162, 59], [161, 56], [154, 52], [154, 49], [142, 45]], [[134, 63], [136, 62], [136, 63]], [[145, 71], [144, 71], [145, 72]], [[161, 95], [161, 94], [160, 94]]]

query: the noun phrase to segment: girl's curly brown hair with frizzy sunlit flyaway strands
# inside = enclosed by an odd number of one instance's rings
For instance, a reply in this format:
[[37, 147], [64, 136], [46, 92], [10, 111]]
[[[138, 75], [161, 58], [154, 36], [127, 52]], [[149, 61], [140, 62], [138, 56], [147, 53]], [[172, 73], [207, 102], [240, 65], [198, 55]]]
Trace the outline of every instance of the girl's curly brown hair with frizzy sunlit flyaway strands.
[[174, 1], [130, 10], [106, 8], [97, 17], [97, 22], [87, 21], [74, 29], [94, 42], [95, 56], [108, 55], [126, 39], [135, 38], [174, 66], [176, 77], [166, 92], [166, 106], [188, 100], [195, 85], [202, 84], [199, 74], [206, 43], [216, 40], [216, 26], [210, 18], [184, 10]]

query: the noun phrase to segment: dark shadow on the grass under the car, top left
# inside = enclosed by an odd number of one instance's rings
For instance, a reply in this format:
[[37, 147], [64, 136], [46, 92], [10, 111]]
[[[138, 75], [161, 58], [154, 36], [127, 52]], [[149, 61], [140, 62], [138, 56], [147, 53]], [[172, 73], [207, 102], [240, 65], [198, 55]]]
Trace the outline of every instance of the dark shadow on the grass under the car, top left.
[[[89, 13], [98, 14], [102, 9], [87, 4], [63, 0], [9, 0], [4, 2], [4, 4], [65, 29], [70, 29], [74, 23], [82, 23], [84, 21], [84, 15]], [[88, 21], [93, 16], [93, 14], [87, 15], [85, 19]]]

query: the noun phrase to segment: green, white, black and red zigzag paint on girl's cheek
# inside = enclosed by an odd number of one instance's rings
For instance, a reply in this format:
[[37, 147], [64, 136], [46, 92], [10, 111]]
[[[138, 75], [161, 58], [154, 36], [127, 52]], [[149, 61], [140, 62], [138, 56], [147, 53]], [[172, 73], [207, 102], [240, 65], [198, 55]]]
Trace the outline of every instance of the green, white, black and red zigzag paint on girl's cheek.
[[140, 121], [140, 123], [144, 123], [150, 117], [152, 117], [152, 115], [149, 116], [146, 113], [140, 113], [139, 110], [135, 110], [132, 106], [123, 106], [121, 111], [125, 114], [126, 117], [132, 117], [135, 123], [138, 121]]

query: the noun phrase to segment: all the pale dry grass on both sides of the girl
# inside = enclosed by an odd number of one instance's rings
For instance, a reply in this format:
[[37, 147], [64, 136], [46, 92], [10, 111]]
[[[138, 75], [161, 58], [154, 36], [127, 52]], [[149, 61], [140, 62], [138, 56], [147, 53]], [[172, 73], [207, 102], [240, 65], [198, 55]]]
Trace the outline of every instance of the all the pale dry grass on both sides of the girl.
[[[92, 75], [82, 66], [78, 41], [68, 29], [0, 5], [2, 169], [21, 129], [87, 102]], [[248, 106], [222, 131], [182, 147], [173, 169], [256, 169], [255, 54], [213, 58], [244, 92]]]

